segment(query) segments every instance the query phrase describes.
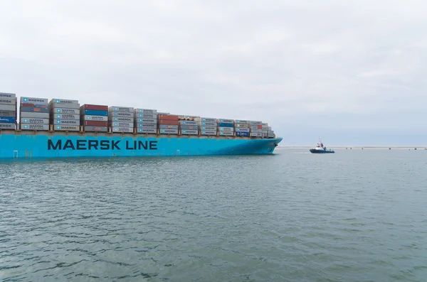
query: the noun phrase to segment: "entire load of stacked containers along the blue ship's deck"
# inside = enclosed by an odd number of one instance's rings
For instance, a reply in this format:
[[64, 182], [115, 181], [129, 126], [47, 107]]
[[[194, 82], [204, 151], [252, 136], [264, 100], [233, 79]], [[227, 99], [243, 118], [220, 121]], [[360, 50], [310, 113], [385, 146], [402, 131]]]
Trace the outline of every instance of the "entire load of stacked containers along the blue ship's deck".
[[[174, 115], [156, 109], [80, 104], [77, 100], [21, 97], [21, 130], [180, 134], [274, 138], [261, 121]], [[16, 94], [0, 93], [0, 129], [16, 129]]]

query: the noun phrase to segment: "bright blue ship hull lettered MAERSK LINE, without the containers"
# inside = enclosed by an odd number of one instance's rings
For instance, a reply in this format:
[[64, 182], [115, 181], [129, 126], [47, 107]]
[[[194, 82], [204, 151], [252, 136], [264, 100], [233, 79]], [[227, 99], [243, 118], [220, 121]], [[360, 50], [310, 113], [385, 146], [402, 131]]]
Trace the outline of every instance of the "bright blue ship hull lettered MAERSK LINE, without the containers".
[[0, 159], [272, 154], [282, 138], [2, 131]]

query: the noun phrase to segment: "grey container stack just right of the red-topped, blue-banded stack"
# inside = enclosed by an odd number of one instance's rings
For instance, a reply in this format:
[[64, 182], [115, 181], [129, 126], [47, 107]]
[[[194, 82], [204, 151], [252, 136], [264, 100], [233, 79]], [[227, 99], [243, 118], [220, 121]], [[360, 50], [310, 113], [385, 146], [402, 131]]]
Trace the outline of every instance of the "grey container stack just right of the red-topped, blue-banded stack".
[[108, 108], [108, 124], [112, 132], [133, 133], [135, 124], [135, 114], [133, 107]]

